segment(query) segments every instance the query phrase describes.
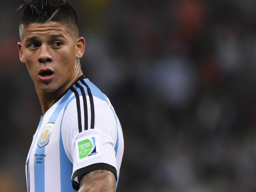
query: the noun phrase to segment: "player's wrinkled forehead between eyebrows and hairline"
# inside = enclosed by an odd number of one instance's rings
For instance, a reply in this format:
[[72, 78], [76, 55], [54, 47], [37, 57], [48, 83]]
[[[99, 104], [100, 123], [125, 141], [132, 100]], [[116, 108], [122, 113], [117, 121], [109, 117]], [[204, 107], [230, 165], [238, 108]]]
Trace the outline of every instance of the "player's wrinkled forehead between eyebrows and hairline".
[[71, 30], [67, 25], [60, 22], [47, 22], [47, 23], [33, 23], [24, 27], [22, 39], [26, 39], [34, 35], [51, 35], [51, 34], [62, 34], [65, 37], [71, 37]]

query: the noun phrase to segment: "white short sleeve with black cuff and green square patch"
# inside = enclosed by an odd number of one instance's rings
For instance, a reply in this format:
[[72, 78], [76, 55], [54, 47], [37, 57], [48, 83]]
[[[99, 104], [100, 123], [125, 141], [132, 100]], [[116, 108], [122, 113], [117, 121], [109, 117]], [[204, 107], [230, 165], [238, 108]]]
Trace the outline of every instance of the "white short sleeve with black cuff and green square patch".
[[[82, 131], [78, 129], [76, 99], [72, 100], [63, 114], [61, 136], [67, 157], [73, 164], [72, 185], [79, 189], [79, 178], [94, 170], [108, 170], [117, 177], [115, 143], [117, 124], [115, 115], [108, 102], [94, 97], [94, 127], [91, 129], [91, 111], [87, 107], [84, 118], [82, 97], [80, 97], [80, 115]], [[87, 120], [88, 127], [85, 127]]]

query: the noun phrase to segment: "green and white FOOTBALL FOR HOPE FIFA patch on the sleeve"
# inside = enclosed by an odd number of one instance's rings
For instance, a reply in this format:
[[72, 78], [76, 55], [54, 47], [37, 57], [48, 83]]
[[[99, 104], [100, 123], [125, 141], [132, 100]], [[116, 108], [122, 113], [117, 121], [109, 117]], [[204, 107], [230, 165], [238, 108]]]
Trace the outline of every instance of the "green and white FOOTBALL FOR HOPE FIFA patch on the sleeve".
[[77, 161], [81, 162], [100, 155], [98, 148], [99, 144], [97, 135], [80, 138], [76, 141]]

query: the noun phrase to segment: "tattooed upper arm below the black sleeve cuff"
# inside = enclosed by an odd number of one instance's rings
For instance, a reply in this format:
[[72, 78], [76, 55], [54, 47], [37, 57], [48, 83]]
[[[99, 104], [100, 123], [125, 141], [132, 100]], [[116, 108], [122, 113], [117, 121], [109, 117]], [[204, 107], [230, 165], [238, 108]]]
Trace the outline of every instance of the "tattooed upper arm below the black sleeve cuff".
[[95, 170], [80, 181], [78, 192], [115, 192], [115, 175], [107, 170]]

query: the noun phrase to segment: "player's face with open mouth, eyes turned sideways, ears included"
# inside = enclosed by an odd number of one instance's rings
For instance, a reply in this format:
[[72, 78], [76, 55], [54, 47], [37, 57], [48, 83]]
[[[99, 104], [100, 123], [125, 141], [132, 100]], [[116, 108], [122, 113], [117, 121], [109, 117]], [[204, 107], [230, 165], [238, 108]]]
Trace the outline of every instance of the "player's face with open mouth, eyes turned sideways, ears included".
[[18, 43], [20, 61], [26, 63], [38, 91], [56, 91], [74, 78], [78, 70], [76, 59], [84, 51], [80, 41], [81, 37], [77, 38], [68, 26], [59, 22], [25, 27], [22, 42]]

